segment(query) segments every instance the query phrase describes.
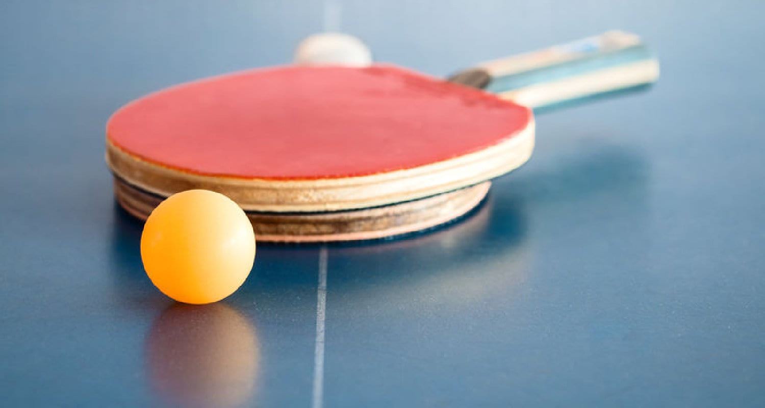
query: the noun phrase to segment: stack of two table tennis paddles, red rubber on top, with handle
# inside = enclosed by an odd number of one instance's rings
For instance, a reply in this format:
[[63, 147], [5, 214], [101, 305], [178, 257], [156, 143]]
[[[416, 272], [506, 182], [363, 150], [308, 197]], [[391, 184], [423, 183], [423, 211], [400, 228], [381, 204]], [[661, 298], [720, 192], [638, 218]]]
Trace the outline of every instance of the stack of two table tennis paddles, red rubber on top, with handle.
[[243, 207], [261, 241], [389, 237], [466, 214], [491, 178], [526, 162], [530, 108], [656, 77], [640, 39], [619, 31], [450, 81], [388, 64], [248, 70], [123, 106], [107, 124], [106, 160], [138, 217], [207, 188]]

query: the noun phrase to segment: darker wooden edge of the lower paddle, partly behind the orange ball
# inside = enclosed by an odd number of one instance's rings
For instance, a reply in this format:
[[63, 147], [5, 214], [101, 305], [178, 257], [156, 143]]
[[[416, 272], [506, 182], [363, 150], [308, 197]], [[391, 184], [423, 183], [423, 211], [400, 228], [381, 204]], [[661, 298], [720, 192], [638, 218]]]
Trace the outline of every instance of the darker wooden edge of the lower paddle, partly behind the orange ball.
[[[354, 211], [308, 214], [248, 211], [256, 240], [280, 243], [321, 243], [373, 240], [426, 230], [462, 217], [486, 197], [490, 182], [420, 200]], [[114, 178], [119, 204], [142, 220], [164, 197], [141, 191]]]

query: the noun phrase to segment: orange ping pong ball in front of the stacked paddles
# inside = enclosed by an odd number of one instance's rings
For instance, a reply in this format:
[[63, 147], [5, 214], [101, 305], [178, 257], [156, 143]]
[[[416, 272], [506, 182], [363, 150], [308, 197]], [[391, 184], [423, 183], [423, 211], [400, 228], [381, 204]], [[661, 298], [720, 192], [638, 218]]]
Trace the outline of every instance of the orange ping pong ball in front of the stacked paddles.
[[255, 261], [244, 211], [213, 191], [173, 194], [151, 212], [141, 236], [151, 282], [178, 302], [217, 302], [242, 286]]

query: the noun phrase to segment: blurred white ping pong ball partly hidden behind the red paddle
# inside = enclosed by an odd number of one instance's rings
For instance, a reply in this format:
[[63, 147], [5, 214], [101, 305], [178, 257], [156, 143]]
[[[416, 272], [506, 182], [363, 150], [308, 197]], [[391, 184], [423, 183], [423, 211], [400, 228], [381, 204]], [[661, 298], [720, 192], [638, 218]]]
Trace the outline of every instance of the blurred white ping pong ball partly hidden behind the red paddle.
[[348, 34], [314, 34], [301, 41], [295, 50], [298, 65], [343, 65], [367, 67], [372, 52], [360, 39]]

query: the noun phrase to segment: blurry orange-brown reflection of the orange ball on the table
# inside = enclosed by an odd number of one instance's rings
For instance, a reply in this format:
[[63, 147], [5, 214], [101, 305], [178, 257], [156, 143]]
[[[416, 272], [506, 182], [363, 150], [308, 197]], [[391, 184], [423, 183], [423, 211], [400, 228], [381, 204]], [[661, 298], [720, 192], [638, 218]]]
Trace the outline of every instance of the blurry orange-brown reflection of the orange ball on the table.
[[256, 328], [223, 302], [171, 305], [151, 325], [145, 353], [151, 387], [168, 405], [244, 406], [256, 391]]

